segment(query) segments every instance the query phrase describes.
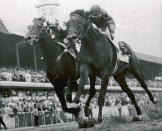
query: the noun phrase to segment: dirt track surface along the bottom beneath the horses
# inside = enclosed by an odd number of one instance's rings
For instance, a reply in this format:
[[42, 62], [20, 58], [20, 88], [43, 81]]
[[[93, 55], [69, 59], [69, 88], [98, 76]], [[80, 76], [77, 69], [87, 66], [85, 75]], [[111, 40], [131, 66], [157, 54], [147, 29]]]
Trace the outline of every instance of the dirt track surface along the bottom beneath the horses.
[[129, 122], [124, 124], [110, 123], [95, 125], [94, 128], [78, 129], [76, 122], [63, 125], [43, 126], [30, 129], [17, 129], [14, 131], [162, 131], [162, 119], [147, 120], [141, 122]]

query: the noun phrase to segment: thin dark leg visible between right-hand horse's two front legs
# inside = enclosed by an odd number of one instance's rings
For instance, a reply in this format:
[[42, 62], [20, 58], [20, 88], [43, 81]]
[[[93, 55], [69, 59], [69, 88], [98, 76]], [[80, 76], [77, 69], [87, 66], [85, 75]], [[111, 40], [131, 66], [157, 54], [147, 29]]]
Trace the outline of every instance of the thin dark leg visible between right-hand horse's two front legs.
[[95, 81], [96, 81], [96, 77], [95, 76], [90, 76], [89, 96], [88, 96], [88, 99], [87, 99], [87, 101], [85, 103], [85, 108], [84, 108], [85, 116], [89, 116], [89, 105], [90, 105], [90, 102], [91, 102], [92, 98], [96, 94]]

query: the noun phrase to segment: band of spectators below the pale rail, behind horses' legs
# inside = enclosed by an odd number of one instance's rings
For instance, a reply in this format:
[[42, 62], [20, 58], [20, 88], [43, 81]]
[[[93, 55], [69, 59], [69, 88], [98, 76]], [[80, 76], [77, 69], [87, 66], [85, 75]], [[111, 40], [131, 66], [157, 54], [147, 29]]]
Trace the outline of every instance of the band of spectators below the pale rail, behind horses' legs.
[[[73, 94], [73, 97], [75, 94]], [[84, 94], [81, 97], [81, 103], [85, 103], [87, 100], [88, 94]], [[144, 105], [151, 103], [147, 94], [136, 94], [135, 95], [137, 102], [143, 101]], [[91, 101], [92, 108], [98, 108], [98, 94]], [[118, 104], [127, 105], [131, 104], [130, 99], [128, 98], [127, 94], [125, 93], [107, 93], [105, 96], [105, 107], [109, 106], [117, 106]], [[45, 111], [61, 111], [60, 102], [54, 93], [51, 97], [46, 96], [16, 96], [16, 97], [6, 97], [2, 98], [0, 101], [1, 106], [5, 110], [6, 114], [17, 114], [22, 112], [33, 112], [34, 105], [37, 106], [38, 111], [45, 112]]]

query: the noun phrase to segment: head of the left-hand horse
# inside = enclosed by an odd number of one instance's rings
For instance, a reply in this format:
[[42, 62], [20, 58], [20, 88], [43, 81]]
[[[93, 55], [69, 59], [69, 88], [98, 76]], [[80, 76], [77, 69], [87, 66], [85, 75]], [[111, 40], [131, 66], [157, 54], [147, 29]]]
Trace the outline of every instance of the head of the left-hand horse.
[[38, 42], [41, 37], [44, 37], [47, 32], [46, 27], [44, 26], [45, 19], [43, 18], [34, 18], [33, 24], [28, 26], [28, 32], [25, 35], [25, 40], [33, 45]]

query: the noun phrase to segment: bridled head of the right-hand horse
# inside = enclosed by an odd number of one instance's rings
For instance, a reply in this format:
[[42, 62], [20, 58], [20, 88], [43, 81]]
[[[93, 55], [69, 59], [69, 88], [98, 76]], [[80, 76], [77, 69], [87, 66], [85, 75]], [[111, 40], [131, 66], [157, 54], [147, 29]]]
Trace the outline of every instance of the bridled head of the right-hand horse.
[[89, 29], [89, 22], [78, 14], [71, 14], [67, 25], [67, 39], [77, 40], [86, 35]]

